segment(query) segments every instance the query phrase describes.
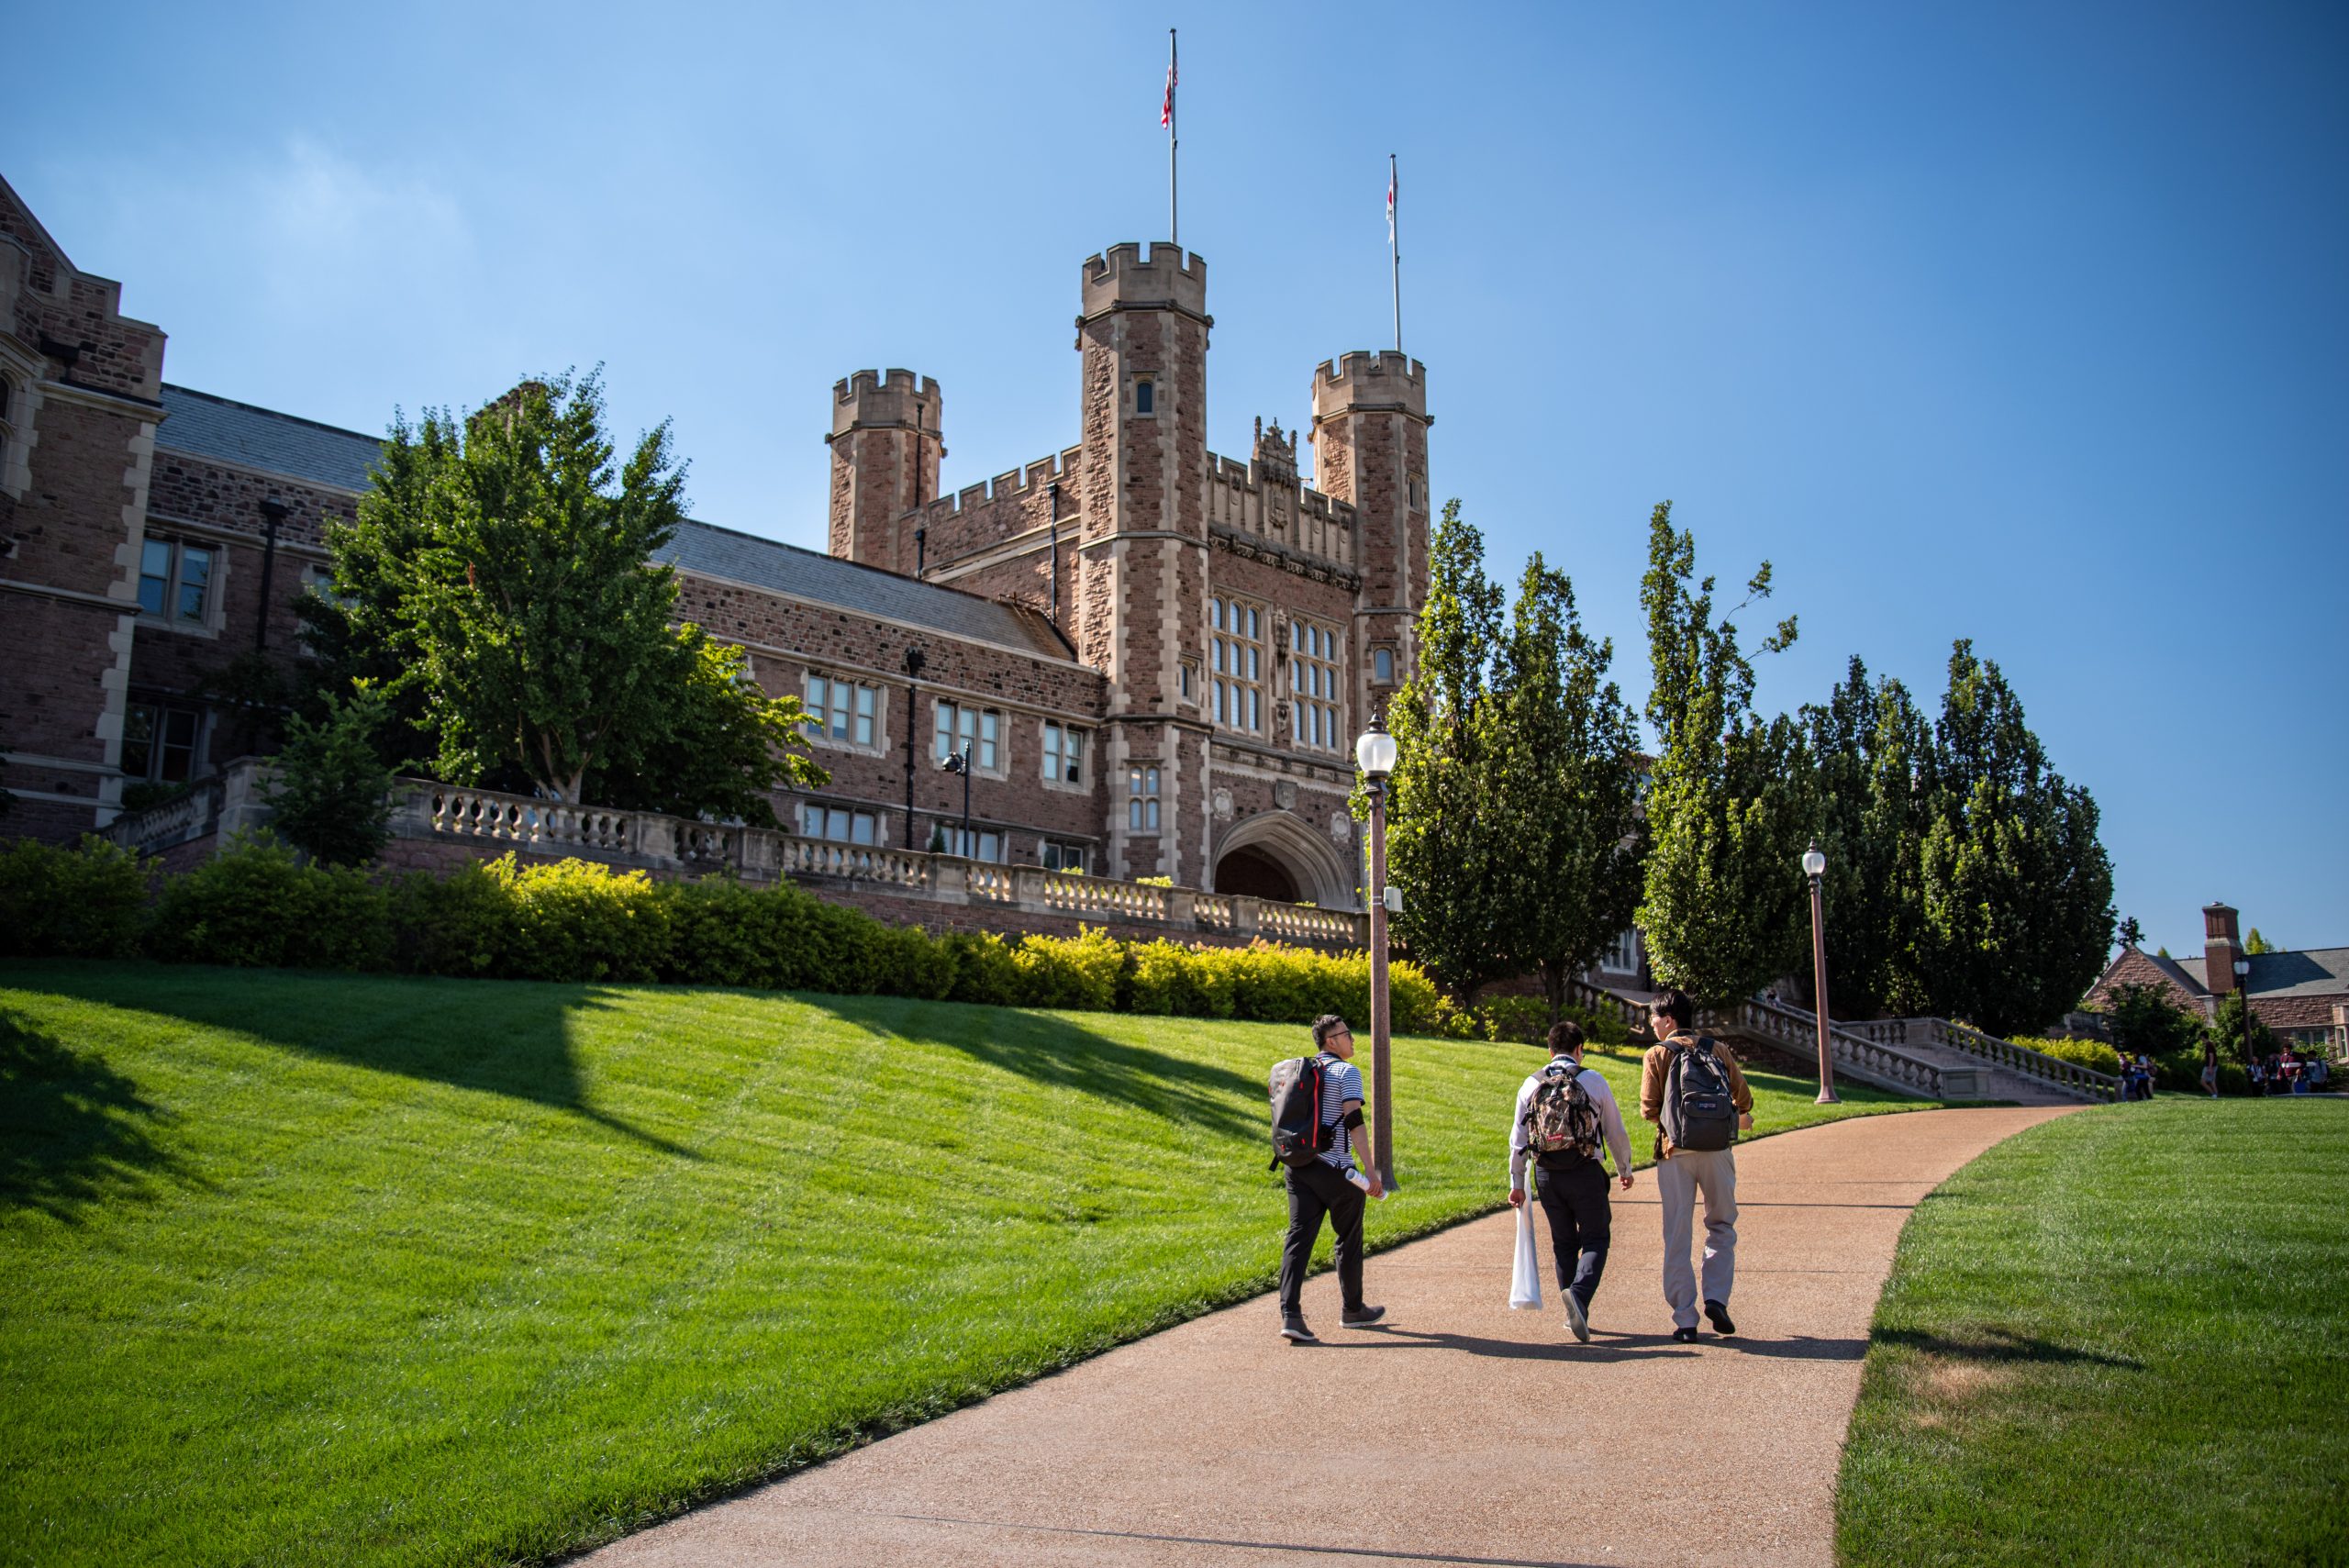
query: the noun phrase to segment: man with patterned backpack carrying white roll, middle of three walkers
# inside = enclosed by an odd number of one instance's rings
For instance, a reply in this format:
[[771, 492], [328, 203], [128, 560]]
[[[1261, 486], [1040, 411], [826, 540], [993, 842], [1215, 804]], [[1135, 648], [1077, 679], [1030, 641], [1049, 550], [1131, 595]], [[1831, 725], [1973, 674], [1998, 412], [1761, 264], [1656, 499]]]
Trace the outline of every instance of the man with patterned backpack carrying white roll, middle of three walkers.
[[1508, 1204], [1525, 1204], [1525, 1164], [1534, 1164], [1534, 1192], [1550, 1216], [1550, 1253], [1557, 1261], [1557, 1293], [1567, 1303], [1574, 1338], [1590, 1340], [1590, 1298], [1607, 1272], [1614, 1216], [1607, 1204], [1607, 1167], [1600, 1141], [1616, 1162], [1616, 1181], [1630, 1192], [1630, 1134], [1607, 1080], [1583, 1066], [1579, 1023], [1550, 1026], [1550, 1066], [1517, 1089], [1508, 1122]]

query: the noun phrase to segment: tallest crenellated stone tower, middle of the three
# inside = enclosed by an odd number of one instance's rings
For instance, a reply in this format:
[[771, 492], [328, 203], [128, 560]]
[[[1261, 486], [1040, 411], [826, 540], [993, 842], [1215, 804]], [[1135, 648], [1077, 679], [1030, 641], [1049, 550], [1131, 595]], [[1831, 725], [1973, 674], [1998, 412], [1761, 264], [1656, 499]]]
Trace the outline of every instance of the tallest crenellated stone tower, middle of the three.
[[[1182, 667], [1207, 603], [1207, 263], [1174, 244], [1113, 244], [1083, 265], [1083, 516], [1073, 634], [1109, 674], [1109, 826], [1123, 876], [1198, 885], [1207, 854], [1207, 730]], [[1135, 826], [1135, 770], [1156, 768], [1158, 829]], [[1144, 772], [1144, 784], [1151, 779]]]

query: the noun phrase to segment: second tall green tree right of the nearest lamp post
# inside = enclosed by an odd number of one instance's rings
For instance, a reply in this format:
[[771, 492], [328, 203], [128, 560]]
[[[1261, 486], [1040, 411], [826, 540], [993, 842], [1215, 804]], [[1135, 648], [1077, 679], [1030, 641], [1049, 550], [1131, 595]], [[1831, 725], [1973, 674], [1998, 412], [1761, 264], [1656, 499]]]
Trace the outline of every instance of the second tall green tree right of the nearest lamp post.
[[1553, 1021], [1640, 906], [1640, 732], [1611, 664], [1614, 643], [1583, 631], [1574, 582], [1534, 554], [1492, 697], [1489, 864], [1501, 958], [1541, 974]]

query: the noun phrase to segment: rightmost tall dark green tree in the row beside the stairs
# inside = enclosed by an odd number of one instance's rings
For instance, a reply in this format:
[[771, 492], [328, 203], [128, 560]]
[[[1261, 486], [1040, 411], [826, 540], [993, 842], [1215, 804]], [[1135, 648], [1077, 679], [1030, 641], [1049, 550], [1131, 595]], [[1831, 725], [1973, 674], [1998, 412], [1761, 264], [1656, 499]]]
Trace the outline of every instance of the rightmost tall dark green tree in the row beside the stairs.
[[1933, 1005], [1994, 1035], [2039, 1028], [2095, 981], [2112, 951], [2112, 861], [2095, 798], [2055, 772], [1999, 667], [1971, 641], [1926, 770], [1924, 981]]

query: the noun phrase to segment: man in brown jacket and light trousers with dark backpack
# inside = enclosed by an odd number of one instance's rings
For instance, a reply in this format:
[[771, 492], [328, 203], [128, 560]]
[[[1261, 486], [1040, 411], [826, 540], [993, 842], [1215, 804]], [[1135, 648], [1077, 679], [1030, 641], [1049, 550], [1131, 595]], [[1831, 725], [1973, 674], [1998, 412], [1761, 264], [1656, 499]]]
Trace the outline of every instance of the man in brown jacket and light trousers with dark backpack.
[[[1696, 1277], [1689, 1270], [1689, 1228], [1696, 1195], [1705, 1195], [1705, 1317], [1719, 1333], [1736, 1333], [1729, 1322], [1729, 1286], [1738, 1263], [1738, 1162], [1736, 1134], [1722, 1129], [1722, 1148], [1680, 1148], [1672, 1134], [1696, 1138], [1689, 1124], [1701, 1106], [1703, 1084], [1727, 1080], [1736, 1108], [1736, 1131], [1755, 1124], [1752, 1089], [1729, 1052], [1694, 1033], [1696, 1005], [1684, 991], [1658, 991], [1649, 1005], [1649, 1028], [1656, 1045], [1640, 1066], [1640, 1115], [1656, 1122], [1656, 1202], [1663, 1207], [1663, 1298], [1672, 1305], [1672, 1338], [1696, 1343]], [[1729, 1108], [1719, 1108], [1727, 1115]]]

